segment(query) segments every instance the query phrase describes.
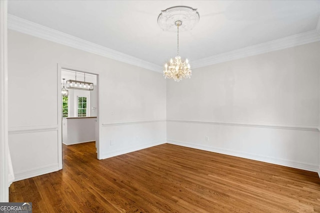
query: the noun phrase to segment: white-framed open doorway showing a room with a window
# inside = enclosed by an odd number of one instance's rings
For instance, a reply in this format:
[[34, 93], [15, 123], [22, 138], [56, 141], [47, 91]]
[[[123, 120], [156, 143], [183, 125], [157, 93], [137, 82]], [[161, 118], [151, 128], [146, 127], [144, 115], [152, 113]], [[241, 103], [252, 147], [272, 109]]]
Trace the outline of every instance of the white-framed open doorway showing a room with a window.
[[67, 66], [57, 68], [58, 166], [65, 146], [95, 142], [99, 159], [98, 74]]

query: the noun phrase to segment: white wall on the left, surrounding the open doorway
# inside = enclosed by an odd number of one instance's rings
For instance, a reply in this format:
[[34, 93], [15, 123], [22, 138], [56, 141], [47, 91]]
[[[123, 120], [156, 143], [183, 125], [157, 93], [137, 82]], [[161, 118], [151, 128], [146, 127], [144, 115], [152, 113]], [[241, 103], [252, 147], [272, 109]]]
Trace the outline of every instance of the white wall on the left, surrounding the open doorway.
[[57, 64], [98, 74], [100, 158], [165, 142], [161, 73], [8, 30], [9, 147], [16, 180], [58, 170]]

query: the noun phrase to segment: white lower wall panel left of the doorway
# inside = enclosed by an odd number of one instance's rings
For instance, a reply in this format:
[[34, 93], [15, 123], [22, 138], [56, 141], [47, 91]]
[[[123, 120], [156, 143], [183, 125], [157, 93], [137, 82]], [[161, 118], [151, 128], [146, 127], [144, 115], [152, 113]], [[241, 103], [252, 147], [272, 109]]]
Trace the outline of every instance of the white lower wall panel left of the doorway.
[[57, 125], [9, 128], [14, 181], [58, 170]]

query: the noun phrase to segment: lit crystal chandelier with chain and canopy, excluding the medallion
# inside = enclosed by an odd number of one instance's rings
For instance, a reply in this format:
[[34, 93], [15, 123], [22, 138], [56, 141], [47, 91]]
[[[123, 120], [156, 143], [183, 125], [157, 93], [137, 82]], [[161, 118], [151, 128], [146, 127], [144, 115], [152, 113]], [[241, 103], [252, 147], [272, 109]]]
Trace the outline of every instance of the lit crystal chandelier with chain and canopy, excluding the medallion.
[[182, 21], [176, 20], [174, 24], [177, 26], [177, 56], [164, 64], [163, 76], [179, 82], [182, 78], [190, 78], [192, 71], [188, 59], [183, 60], [179, 56], [179, 26], [182, 25]]

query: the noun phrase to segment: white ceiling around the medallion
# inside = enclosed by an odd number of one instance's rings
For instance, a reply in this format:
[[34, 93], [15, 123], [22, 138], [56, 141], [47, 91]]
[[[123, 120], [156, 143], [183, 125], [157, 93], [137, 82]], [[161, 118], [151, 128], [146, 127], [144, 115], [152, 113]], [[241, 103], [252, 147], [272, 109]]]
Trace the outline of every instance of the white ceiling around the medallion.
[[161, 10], [197, 8], [199, 23], [179, 33], [190, 61], [314, 30], [319, 0], [10, 0], [9, 14], [78, 38], [163, 64], [176, 54], [176, 33], [157, 25]]

